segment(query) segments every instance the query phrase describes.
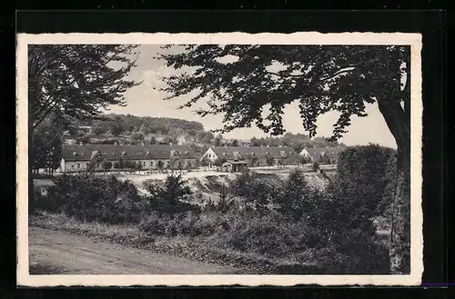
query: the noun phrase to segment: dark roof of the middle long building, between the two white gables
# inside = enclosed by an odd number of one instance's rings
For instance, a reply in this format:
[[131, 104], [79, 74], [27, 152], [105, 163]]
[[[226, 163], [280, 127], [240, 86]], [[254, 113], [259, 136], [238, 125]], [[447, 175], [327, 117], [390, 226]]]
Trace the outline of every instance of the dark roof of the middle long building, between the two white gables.
[[282, 154], [287, 154], [288, 157], [297, 156], [294, 149], [288, 146], [212, 146], [211, 149], [219, 158], [224, 157], [226, 159], [234, 159], [238, 156], [246, 159], [252, 158], [253, 156], [264, 158], [267, 155], [278, 158]]

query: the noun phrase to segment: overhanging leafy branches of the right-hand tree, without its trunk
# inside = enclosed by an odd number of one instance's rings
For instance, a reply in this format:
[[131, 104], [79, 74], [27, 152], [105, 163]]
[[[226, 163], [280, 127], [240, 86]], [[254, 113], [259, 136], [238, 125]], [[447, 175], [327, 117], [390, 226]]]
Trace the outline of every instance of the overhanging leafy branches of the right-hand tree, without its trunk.
[[[196, 92], [183, 106], [208, 98], [200, 115], [224, 113], [222, 131], [258, 125], [272, 135], [284, 133], [284, 105], [298, 101], [302, 125], [316, 135], [316, 120], [330, 110], [340, 112], [334, 137], [345, 133], [351, 115], [366, 116], [365, 104], [400, 95], [400, 75], [409, 69], [409, 48], [383, 45], [184, 45], [179, 54], [163, 53], [167, 66], [183, 75], [164, 80], [169, 98]], [[166, 47], [165, 47], [166, 48]], [[219, 59], [234, 56], [232, 62]], [[273, 65], [282, 70], [273, 70]], [[407, 65], [409, 67], [409, 65]], [[193, 70], [186, 72], [187, 68]], [[379, 87], [380, 86], [380, 87]], [[398, 96], [398, 103], [407, 96]], [[263, 106], [269, 115], [262, 116]], [[265, 121], [268, 121], [266, 124]]]

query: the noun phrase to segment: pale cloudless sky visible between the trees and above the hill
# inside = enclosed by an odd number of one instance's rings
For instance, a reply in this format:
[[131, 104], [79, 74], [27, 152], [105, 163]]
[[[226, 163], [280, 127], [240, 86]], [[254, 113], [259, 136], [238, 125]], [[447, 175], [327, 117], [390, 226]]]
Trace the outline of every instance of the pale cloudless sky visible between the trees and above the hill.
[[[197, 121], [204, 125], [206, 130], [222, 128], [222, 115], [201, 117], [193, 112], [194, 108], [177, 109], [177, 106], [187, 102], [189, 96], [181, 96], [167, 101], [163, 100], [167, 94], [158, 90], [158, 88], [165, 86], [159, 76], [172, 75], [175, 71], [172, 68], [168, 68], [164, 61], [155, 58], [158, 52], [163, 51], [159, 47], [159, 45], [140, 45], [137, 48], [137, 66], [131, 71], [129, 77], [136, 81], [142, 81], [142, 84], [126, 91], [126, 106], [110, 106], [108, 112]], [[379, 113], [378, 105], [367, 105], [366, 112], [368, 113], [367, 117], [352, 116], [348, 133], [340, 138], [339, 142], [345, 145], [368, 145], [373, 143], [396, 148], [395, 140], [390, 134], [384, 118]], [[336, 112], [329, 112], [326, 115], [319, 116], [317, 136], [330, 136], [337, 119], [338, 114]], [[301, 123], [297, 103], [288, 105], [284, 109], [283, 125], [287, 132], [308, 134]], [[268, 135], [253, 126], [236, 129], [223, 136], [249, 140], [253, 136], [265, 137]]]

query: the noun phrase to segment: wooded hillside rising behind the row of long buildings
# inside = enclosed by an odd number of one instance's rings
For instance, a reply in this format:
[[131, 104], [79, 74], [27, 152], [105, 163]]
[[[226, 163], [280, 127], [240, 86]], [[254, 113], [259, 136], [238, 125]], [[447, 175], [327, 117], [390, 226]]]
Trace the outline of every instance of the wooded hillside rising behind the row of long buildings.
[[338, 142], [329, 142], [324, 137], [310, 138], [304, 134], [287, 133], [282, 136], [253, 137], [249, 141], [225, 139], [206, 131], [204, 125], [194, 121], [170, 117], [151, 117], [136, 115], [98, 115], [92, 119], [74, 120], [73, 132], [77, 141], [84, 143], [138, 144], [138, 143], [173, 143], [194, 145], [197, 153], [203, 153], [209, 145], [242, 146], [269, 145], [291, 146], [297, 152], [304, 147], [338, 146]]

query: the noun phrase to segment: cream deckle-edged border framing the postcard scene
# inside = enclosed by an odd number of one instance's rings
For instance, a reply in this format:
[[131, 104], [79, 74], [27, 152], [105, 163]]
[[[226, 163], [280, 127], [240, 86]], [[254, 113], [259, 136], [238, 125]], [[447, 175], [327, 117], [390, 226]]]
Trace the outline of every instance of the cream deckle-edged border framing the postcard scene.
[[[423, 273], [421, 35], [408, 33], [304, 32], [293, 34], [42, 34], [17, 35], [16, 47], [16, 206], [17, 284], [23, 286], [130, 285], [418, 285]], [[30, 275], [28, 273], [28, 117], [29, 44], [262, 44], [262, 45], [410, 45], [411, 46], [411, 271], [410, 275]]]

